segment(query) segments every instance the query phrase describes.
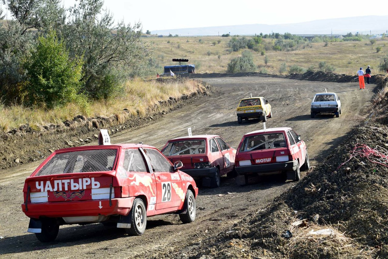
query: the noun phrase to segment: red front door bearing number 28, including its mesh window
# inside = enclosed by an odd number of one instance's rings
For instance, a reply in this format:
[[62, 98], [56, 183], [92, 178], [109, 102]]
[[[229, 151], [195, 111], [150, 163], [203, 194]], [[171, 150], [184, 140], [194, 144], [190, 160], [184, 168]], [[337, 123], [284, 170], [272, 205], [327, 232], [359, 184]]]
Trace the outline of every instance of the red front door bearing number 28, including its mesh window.
[[185, 199], [182, 182], [173, 165], [157, 149], [144, 148], [156, 180], [156, 210], [175, 210]]

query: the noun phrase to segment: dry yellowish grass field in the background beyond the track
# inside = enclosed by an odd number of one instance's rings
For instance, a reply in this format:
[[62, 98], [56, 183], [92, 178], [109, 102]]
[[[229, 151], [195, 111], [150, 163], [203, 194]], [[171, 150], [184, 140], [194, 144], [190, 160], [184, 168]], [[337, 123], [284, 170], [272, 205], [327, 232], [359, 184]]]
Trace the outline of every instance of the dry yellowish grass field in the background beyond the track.
[[[199, 65], [198, 73], [217, 72], [224, 73], [230, 59], [240, 55], [243, 50], [229, 54], [228, 42], [230, 37], [163, 37], [144, 38], [145, 41], [156, 44], [156, 58], [161, 66], [177, 65], [172, 58], [187, 58], [189, 64]], [[199, 42], [201, 40], [201, 42]], [[213, 42], [221, 40], [220, 44], [213, 46]], [[272, 39], [264, 39], [270, 42]], [[170, 43], [168, 43], [168, 41]], [[279, 67], [282, 63], [298, 65], [303, 68], [314, 66], [318, 68], [320, 61], [326, 61], [327, 65], [335, 68], [337, 74], [355, 75], [360, 66], [366, 69], [371, 66], [372, 74], [381, 73], [377, 71], [380, 58], [388, 56], [388, 40], [377, 40], [371, 45], [368, 40], [360, 42], [329, 42], [324, 47], [324, 42], [309, 43], [294, 51], [266, 51], [269, 62], [264, 63], [264, 56], [253, 52], [254, 62], [258, 66], [257, 71], [265, 68], [268, 73], [279, 74]], [[311, 46], [311, 47], [310, 47]], [[376, 53], [376, 47], [381, 51]], [[210, 51], [210, 56], [208, 52]], [[218, 58], [218, 55], [220, 58]]]

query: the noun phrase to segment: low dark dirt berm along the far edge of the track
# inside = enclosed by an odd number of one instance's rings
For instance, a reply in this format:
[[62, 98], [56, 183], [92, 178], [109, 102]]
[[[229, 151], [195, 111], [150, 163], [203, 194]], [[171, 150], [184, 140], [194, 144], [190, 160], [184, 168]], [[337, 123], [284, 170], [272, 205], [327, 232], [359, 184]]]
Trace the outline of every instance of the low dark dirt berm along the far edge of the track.
[[[184, 74], [184, 77], [190, 78], [214, 78], [214, 77], [277, 77], [277, 78], [288, 78], [288, 79], [299, 79], [299, 80], [310, 80], [320, 82], [357, 82], [358, 77], [355, 75], [338, 75], [335, 73], [326, 73], [322, 71], [312, 72], [308, 71], [303, 74], [291, 73], [289, 75], [275, 75], [260, 72], [240, 72], [240, 73], [203, 73], [203, 74]], [[374, 82], [375, 76], [371, 78], [371, 82]]]

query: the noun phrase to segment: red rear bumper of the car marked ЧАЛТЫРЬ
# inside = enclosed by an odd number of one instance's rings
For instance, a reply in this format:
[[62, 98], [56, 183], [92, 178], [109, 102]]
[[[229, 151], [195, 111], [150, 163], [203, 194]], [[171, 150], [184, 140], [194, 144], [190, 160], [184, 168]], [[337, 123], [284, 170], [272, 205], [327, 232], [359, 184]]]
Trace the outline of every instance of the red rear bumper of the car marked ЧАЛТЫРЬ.
[[30, 218], [82, 217], [98, 215], [128, 215], [135, 197], [111, 200], [63, 201], [22, 204], [23, 212]]

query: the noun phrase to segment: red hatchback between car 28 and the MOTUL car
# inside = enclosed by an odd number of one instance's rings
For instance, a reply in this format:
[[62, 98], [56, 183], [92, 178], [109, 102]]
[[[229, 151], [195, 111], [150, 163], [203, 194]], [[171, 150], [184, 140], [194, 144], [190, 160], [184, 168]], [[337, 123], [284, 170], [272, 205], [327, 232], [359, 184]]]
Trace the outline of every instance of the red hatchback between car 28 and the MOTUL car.
[[218, 135], [196, 135], [168, 140], [162, 153], [171, 163], [182, 161], [182, 171], [203, 186], [220, 187], [221, 176], [233, 176], [236, 149]]

